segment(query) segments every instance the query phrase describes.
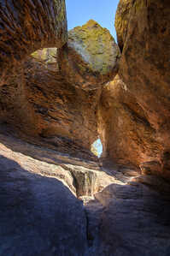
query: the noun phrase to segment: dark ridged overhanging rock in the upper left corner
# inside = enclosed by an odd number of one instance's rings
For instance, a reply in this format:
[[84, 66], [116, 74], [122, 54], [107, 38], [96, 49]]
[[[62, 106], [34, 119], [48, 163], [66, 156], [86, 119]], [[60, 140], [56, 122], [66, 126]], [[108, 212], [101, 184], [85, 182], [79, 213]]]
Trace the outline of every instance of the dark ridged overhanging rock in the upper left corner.
[[33, 51], [67, 41], [64, 0], [0, 0], [0, 85]]

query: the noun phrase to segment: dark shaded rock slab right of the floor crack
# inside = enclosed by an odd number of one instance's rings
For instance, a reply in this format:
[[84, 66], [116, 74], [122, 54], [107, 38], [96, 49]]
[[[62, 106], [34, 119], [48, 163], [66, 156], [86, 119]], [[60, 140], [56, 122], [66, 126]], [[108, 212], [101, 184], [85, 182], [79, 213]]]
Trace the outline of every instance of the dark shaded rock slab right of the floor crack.
[[97, 255], [167, 256], [170, 253], [169, 189], [165, 197], [152, 189], [154, 177], [150, 182], [150, 186], [140, 182], [112, 184], [95, 195], [104, 207], [103, 213], [99, 213]]

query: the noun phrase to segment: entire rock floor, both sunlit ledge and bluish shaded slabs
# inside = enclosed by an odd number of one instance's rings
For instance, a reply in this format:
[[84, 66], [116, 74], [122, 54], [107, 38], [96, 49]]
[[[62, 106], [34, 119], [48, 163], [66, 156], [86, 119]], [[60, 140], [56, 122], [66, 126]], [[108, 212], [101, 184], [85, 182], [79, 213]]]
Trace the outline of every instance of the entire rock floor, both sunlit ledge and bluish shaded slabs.
[[132, 180], [137, 172], [33, 146], [2, 125], [0, 155], [0, 255], [169, 255], [160, 177]]

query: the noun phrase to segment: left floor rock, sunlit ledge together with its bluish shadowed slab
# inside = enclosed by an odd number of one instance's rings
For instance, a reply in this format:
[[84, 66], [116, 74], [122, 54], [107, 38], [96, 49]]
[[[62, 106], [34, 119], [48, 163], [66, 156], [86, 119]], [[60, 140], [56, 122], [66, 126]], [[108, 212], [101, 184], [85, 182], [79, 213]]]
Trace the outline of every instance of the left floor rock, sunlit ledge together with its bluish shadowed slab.
[[114, 177], [96, 162], [0, 129], [0, 255], [88, 255], [86, 212], [77, 197], [92, 196]]

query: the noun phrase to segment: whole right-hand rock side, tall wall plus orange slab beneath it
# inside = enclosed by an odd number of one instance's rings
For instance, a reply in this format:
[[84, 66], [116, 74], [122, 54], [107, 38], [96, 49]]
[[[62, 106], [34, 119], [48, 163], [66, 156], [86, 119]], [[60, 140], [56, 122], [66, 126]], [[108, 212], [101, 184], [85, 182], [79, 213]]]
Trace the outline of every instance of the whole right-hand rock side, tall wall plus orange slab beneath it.
[[[150, 171], [160, 170], [166, 178], [170, 152], [169, 19], [168, 1], [120, 1], [115, 27], [122, 51], [119, 75], [126, 91], [119, 89], [119, 108], [116, 108], [117, 96], [112, 96], [115, 104], [103, 96], [105, 104], [107, 101], [111, 104], [108, 107], [111, 124], [104, 124], [107, 132], [103, 135], [110, 134], [106, 139], [108, 155], [118, 156], [121, 162], [125, 158], [125, 164], [129, 161], [146, 166], [146, 162], [154, 161], [157, 166], [149, 164]], [[108, 86], [103, 95], [107, 90], [112, 95], [118, 91]], [[108, 113], [104, 115], [108, 120]], [[111, 116], [115, 116], [115, 122]]]

